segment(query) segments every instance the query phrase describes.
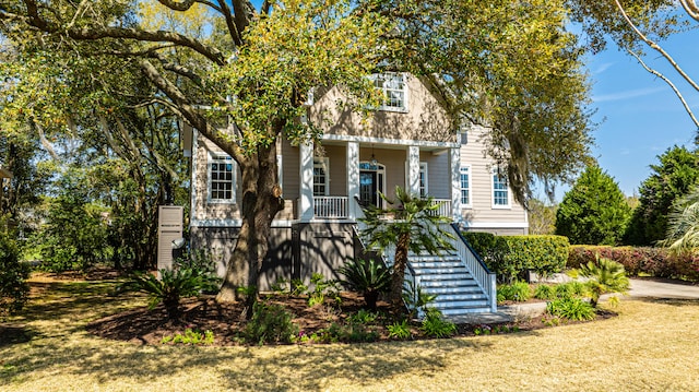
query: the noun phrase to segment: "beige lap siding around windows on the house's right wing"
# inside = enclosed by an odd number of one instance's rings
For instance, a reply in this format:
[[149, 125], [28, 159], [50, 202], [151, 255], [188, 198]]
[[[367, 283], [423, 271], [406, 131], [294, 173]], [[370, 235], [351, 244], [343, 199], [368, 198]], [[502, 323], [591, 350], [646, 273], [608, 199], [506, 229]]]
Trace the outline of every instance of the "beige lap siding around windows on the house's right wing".
[[[490, 159], [484, 156], [483, 136], [486, 131], [481, 128], [472, 128], [469, 131], [469, 141], [461, 145], [461, 165], [471, 166], [471, 209], [462, 209], [464, 218], [472, 224], [497, 228], [497, 224], [526, 224], [526, 212], [522, 205], [514, 202], [510, 190], [510, 207], [493, 206], [493, 178]], [[506, 229], [502, 233], [519, 233], [522, 229]]]

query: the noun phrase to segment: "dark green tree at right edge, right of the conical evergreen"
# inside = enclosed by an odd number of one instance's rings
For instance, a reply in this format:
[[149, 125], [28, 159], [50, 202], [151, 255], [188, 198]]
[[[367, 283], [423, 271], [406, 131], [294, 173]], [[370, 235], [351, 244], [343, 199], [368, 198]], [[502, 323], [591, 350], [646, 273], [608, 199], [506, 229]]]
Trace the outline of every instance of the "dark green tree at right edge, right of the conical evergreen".
[[699, 180], [699, 152], [673, 146], [657, 156], [651, 175], [639, 189], [639, 205], [633, 210], [624, 236], [629, 245], [651, 246], [665, 238], [673, 203], [687, 194]]

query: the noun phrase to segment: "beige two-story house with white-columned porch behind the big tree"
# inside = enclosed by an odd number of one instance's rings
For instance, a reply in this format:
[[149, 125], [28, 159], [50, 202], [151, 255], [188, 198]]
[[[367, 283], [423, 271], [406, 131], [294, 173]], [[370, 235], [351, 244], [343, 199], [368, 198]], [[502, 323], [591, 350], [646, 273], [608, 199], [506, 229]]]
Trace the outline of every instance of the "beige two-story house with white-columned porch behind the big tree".
[[[336, 269], [358, 256], [362, 206], [380, 205], [379, 192], [392, 198], [396, 186], [436, 198], [440, 213], [466, 229], [526, 234], [524, 209], [514, 202], [506, 177], [483, 154], [484, 130], [457, 132], [439, 99], [418, 78], [406, 73], [374, 78], [386, 100], [368, 122], [337, 104], [342, 98], [337, 88], [319, 90], [308, 105], [308, 121], [323, 130], [320, 145], [280, 143], [285, 207], [273, 223], [262, 289], [277, 278], [308, 281], [317, 272], [336, 277]], [[240, 227], [239, 173], [229, 156], [196, 130], [193, 135], [191, 246], [210, 250], [223, 273]], [[413, 264], [411, 271], [419, 274], [418, 260]], [[488, 281], [481, 286], [490, 285], [490, 278], [494, 285], [493, 276], [481, 278]], [[493, 304], [488, 298], [481, 308]]]

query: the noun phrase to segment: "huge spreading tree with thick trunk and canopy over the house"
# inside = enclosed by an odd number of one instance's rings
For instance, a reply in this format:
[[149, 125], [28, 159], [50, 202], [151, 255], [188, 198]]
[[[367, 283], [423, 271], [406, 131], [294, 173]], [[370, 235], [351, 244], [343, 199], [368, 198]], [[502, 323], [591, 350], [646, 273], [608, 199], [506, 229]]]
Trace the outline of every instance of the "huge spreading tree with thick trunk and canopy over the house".
[[[258, 281], [283, 205], [276, 144], [317, 139], [316, 124], [297, 120], [313, 87], [337, 86], [350, 107], [367, 110], [380, 98], [367, 74], [399, 70], [430, 81], [453, 129], [491, 130], [488, 152], [522, 202], [536, 177], [568, 180], [588, 159], [588, 85], [562, 0], [287, 0], [259, 9], [247, 0], [158, 0], [159, 11], [153, 3], [0, 3], [10, 47], [0, 62], [8, 85], [0, 119], [51, 136], [97, 123], [119, 103], [156, 103], [229, 154], [241, 171], [242, 225], [221, 300]], [[163, 10], [194, 13], [151, 17]], [[122, 83], [125, 70], [139, 78]]]

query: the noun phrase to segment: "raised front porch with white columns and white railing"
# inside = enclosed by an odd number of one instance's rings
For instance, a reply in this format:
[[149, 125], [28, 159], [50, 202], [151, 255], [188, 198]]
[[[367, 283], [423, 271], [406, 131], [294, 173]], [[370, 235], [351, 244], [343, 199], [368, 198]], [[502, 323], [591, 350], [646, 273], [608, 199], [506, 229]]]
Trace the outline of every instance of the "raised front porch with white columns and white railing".
[[460, 216], [459, 144], [327, 138], [322, 147], [298, 147], [299, 222], [356, 222], [362, 206], [386, 206], [380, 194], [393, 199], [396, 186], [433, 197], [439, 215]]

